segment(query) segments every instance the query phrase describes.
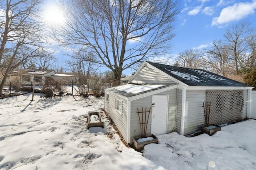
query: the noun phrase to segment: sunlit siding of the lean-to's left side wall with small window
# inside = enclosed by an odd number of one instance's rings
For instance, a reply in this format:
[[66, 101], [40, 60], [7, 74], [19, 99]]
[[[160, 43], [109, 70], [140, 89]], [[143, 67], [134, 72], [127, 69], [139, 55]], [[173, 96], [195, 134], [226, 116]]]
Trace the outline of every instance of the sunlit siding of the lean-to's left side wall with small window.
[[[115, 123], [116, 127], [127, 141], [127, 100], [124, 100], [115, 94], [109, 93], [107, 90], [105, 94], [109, 94], [109, 99], [105, 98], [105, 110]], [[122, 101], [122, 112], [116, 109], [116, 98]]]

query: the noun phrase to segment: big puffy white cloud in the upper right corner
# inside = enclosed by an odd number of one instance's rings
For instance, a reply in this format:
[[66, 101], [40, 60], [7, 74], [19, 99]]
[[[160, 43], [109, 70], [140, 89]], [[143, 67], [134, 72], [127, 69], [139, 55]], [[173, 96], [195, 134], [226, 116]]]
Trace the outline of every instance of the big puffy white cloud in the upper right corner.
[[249, 14], [254, 13], [256, 8], [256, 0], [252, 3], [236, 3], [233, 6], [223, 8], [219, 17], [215, 17], [212, 20], [212, 25], [222, 25], [231, 21], [240, 20]]

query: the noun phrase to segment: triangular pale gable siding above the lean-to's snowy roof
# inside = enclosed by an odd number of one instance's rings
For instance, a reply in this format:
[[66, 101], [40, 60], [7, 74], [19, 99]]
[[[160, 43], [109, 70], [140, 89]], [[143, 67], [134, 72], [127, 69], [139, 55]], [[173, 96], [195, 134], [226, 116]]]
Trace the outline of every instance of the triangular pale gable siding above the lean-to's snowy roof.
[[158, 72], [150, 66], [142, 69], [134, 76], [130, 83], [134, 84], [177, 84], [164, 74]]

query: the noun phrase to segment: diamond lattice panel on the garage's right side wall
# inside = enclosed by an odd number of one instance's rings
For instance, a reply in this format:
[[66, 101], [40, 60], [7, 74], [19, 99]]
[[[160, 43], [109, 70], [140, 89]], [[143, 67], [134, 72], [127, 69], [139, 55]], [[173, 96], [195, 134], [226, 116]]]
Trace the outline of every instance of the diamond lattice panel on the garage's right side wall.
[[206, 96], [211, 102], [210, 124], [242, 120], [244, 90], [207, 90]]

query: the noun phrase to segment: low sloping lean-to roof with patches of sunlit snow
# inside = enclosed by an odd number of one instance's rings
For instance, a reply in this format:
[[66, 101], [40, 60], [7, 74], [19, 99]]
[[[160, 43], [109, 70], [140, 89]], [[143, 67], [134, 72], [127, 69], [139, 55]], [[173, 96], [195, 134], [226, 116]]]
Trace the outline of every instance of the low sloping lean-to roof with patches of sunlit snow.
[[110, 92], [120, 94], [122, 96], [131, 97], [145, 92], [151, 92], [153, 90], [158, 90], [168, 86], [173, 86], [174, 84], [150, 84], [150, 85], [139, 85], [139, 84], [126, 84], [122, 86], [116, 86], [112, 88], [107, 88]]

